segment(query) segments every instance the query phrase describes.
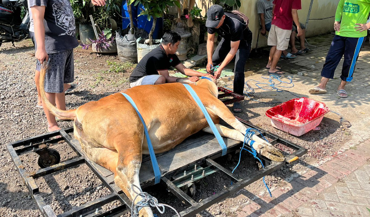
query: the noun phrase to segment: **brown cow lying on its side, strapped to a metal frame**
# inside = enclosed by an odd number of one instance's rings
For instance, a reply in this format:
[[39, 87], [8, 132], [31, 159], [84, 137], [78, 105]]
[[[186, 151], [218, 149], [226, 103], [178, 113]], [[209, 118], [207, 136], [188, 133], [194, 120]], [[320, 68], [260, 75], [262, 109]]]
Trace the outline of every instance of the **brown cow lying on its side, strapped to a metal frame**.
[[[121, 93], [115, 93], [78, 109], [60, 110], [45, 97], [45, 68], [40, 73], [42, 102], [55, 115], [74, 120], [74, 137], [91, 160], [111, 170], [114, 182], [133, 200], [136, 193], [131, 186], [140, 186], [139, 170], [142, 154], [148, 154], [148, 144], [143, 124], [132, 105]], [[244, 140], [246, 127], [238, 121], [217, 98], [216, 80], [200, 79], [191, 87], [206, 107], [221, 136], [237, 141]], [[212, 133], [201, 109], [181, 83], [143, 85], [124, 90], [137, 105], [148, 127], [155, 153], [168, 151], [188, 136], [205, 131]], [[233, 129], [219, 124], [222, 118]], [[283, 161], [283, 155], [271, 144], [257, 136], [253, 147], [263, 156]], [[140, 196], [135, 204], [141, 200]], [[152, 217], [150, 208], [140, 211], [140, 216]]]

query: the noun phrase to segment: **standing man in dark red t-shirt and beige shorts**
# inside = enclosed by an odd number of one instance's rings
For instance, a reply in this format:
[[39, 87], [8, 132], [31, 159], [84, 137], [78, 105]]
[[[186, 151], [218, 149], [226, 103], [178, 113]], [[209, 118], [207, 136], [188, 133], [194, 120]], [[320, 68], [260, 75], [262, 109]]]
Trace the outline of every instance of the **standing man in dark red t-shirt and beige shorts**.
[[270, 66], [269, 74], [282, 75], [284, 72], [277, 69], [276, 65], [282, 51], [288, 48], [293, 21], [297, 26], [297, 36], [302, 35], [297, 13], [297, 10], [301, 9], [301, 4], [300, 0], [274, 0], [272, 3], [274, 4], [273, 18], [267, 39], [267, 44], [272, 47], [267, 66]]

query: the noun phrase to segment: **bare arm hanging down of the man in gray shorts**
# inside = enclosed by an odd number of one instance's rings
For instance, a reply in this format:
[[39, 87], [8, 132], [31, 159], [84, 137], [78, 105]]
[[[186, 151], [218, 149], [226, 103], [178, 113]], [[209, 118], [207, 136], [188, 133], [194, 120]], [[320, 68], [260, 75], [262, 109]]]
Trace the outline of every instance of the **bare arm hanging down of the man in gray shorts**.
[[32, 6], [32, 19], [34, 20], [35, 26], [35, 38], [37, 44], [37, 50], [35, 57], [42, 64], [44, 60], [48, 60], [49, 56], [45, 50], [45, 27], [44, 27], [44, 14], [45, 6]]

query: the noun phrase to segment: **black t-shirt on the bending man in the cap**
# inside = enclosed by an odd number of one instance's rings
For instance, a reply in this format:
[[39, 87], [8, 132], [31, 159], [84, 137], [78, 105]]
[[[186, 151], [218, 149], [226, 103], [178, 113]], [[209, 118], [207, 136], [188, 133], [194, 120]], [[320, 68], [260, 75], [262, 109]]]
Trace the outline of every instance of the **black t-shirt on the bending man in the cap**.
[[219, 29], [208, 27], [209, 34], [217, 33], [228, 41], [247, 40], [248, 43], [252, 41], [252, 33], [247, 28], [244, 20], [238, 15], [225, 12], [225, 19]]

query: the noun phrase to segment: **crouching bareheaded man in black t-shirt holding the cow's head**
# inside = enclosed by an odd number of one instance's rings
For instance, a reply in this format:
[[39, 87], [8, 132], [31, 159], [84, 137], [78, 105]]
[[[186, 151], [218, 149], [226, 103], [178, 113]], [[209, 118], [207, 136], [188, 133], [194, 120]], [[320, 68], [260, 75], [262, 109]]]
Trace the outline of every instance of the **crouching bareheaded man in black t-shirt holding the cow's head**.
[[[179, 77], [170, 76], [168, 69], [172, 66], [179, 72], [189, 76], [188, 80], [196, 82], [197, 76], [207, 74], [187, 69], [176, 56], [181, 36], [175, 32], [167, 32], [162, 37], [162, 43], [138, 63], [130, 76], [130, 87], [146, 84], [164, 84], [177, 82]], [[184, 80], [184, 79], [182, 79]]]

